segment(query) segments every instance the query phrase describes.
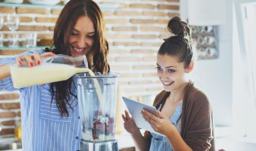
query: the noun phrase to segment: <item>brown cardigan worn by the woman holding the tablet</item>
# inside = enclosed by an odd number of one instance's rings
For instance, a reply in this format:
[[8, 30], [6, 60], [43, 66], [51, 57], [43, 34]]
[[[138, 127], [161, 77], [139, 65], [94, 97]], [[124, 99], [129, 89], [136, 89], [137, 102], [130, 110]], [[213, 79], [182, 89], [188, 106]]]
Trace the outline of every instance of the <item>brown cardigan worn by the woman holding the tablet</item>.
[[[162, 91], [154, 101], [159, 106], [170, 95]], [[189, 82], [185, 88], [181, 113], [181, 137], [193, 150], [214, 150], [212, 107], [207, 96]], [[146, 131], [144, 137], [151, 141], [150, 132]]]

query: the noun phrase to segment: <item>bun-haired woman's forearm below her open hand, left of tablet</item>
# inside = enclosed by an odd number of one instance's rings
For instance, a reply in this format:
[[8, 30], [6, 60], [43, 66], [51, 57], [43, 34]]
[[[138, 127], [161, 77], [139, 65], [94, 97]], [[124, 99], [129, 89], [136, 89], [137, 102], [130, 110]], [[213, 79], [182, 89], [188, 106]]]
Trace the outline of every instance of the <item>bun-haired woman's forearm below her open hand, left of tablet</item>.
[[150, 143], [148, 140], [141, 135], [140, 132], [136, 133], [135, 135], [132, 135], [133, 141], [135, 142], [135, 146], [140, 151], [149, 150]]

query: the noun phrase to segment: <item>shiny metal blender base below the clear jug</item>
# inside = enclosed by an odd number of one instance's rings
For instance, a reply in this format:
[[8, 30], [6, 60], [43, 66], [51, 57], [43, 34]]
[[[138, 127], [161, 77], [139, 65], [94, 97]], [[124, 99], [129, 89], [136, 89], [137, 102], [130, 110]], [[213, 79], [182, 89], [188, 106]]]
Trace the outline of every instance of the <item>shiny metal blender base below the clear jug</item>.
[[117, 140], [100, 142], [80, 140], [80, 151], [118, 151]]

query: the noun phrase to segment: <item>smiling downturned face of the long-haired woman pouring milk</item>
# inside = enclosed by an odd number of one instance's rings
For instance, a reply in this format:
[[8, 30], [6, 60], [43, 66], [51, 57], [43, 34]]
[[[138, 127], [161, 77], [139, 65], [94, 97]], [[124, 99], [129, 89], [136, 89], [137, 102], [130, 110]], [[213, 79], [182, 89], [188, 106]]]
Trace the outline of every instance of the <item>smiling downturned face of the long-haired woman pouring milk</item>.
[[80, 16], [68, 38], [71, 56], [86, 55], [93, 45], [94, 33], [92, 20], [88, 16]]

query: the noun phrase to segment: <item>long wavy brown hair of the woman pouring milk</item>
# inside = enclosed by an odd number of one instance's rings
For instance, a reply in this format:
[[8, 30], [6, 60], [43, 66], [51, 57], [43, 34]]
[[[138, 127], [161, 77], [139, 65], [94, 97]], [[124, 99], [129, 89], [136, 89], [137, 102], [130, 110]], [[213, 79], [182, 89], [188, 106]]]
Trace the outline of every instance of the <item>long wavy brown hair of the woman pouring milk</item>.
[[[109, 52], [108, 42], [104, 36], [105, 24], [103, 23], [103, 14], [99, 6], [92, 0], [70, 0], [62, 9], [59, 18], [55, 24], [53, 33], [52, 52], [55, 54], [71, 55], [69, 51], [68, 38], [80, 16], [88, 16], [94, 24], [93, 45], [88, 54], [86, 54], [89, 68], [94, 72], [105, 74], [109, 72], [107, 55]], [[51, 83], [52, 100], [55, 97], [57, 107], [61, 117], [69, 116], [67, 105], [73, 110], [73, 97], [77, 96], [72, 92], [73, 78], [66, 81]], [[52, 103], [52, 102], [51, 102]]]

